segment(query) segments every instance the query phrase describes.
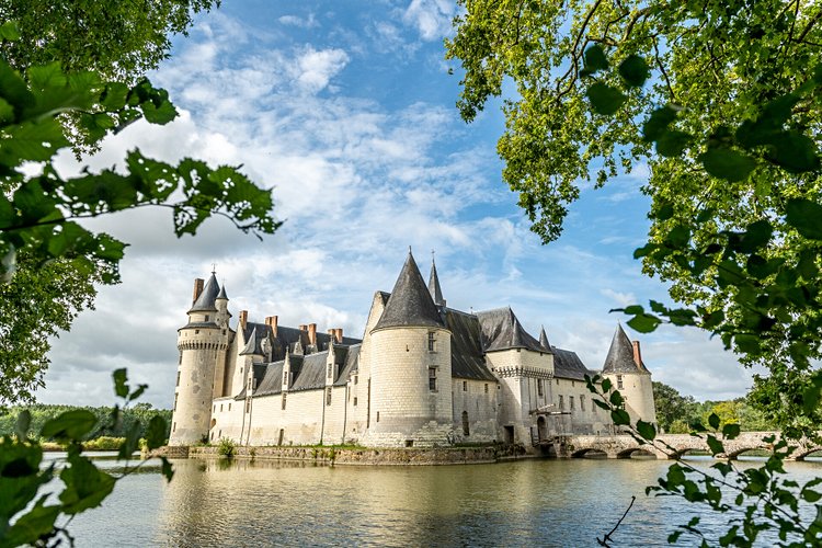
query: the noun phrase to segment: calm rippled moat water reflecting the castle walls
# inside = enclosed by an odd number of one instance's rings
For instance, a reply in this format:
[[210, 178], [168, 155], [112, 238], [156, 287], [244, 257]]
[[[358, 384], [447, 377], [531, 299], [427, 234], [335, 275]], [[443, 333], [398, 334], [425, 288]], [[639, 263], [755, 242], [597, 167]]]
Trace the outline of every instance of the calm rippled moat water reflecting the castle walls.
[[[667, 534], [695, 510], [680, 499], [644, 495], [644, 487], [669, 465], [573, 459], [315, 467], [175, 460], [171, 483], [157, 466], [148, 466], [118, 483], [101, 509], [78, 516], [70, 529], [79, 547], [596, 546], [595, 537], [610, 530], [636, 495], [615, 545], [667, 546]], [[820, 463], [789, 467], [800, 481], [822, 475]], [[720, 522], [720, 516], [703, 516], [708, 529]]]

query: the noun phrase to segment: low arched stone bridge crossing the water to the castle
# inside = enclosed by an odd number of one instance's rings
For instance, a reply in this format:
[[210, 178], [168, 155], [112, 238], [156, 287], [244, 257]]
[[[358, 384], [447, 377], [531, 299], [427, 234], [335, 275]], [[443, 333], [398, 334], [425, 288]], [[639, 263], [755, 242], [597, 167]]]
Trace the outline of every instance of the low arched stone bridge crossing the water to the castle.
[[[763, 441], [764, 437], [776, 436], [778, 432], [743, 432], [734, 439], [722, 442], [726, 448], [724, 455], [717, 455], [719, 458], [735, 459], [741, 454], [752, 449], [773, 449], [773, 444]], [[595, 435], [571, 435], [558, 436], [550, 441], [543, 441], [540, 445], [546, 453], [552, 453], [560, 457], [584, 457], [586, 455], [605, 454], [607, 458], [630, 458], [635, 453], [651, 454], [657, 458], [677, 458], [688, 452], [708, 452], [708, 444], [703, 437], [692, 436], [690, 434], [661, 434], [657, 436], [661, 444], [640, 445], [629, 435], [595, 436]], [[659, 447], [663, 445], [665, 450]], [[791, 455], [791, 460], [803, 460], [811, 453], [822, 450], [822, 446], [811, 443], [809, 439], [800, 442], [792, 441], [792, 446], [797, 449]]]

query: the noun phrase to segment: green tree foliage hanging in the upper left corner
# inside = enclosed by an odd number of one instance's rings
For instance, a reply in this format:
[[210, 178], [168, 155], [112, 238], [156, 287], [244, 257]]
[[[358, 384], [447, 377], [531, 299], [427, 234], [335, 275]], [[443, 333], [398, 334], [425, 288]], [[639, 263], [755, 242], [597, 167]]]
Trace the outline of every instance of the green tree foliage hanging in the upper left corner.
[[[212, 212], [254, 233], [278, 226], [270, 192], [231, 168], [194, 160], [172, 167], [139, 151], [129, 155], [125, 178], [106, 170], [62, 181], [50, 165], [70, 144], [93, 150], [141, 117], [173, 119], [168, 94], [141, 71], [167, 56], [167, 33], [184, 32], [192, 10], [213, 4], [0, 1], [0, 20], [20, 16], [0, 31], [0, 274], [9, 282], [0, 284], [0, 407], [31, 401], [43, 386], [49, 338], [93, 306], [94, 284], [118, 281], [124, 244], [72, 219], [156, 205], [173, 210], [178, 236], [194, 233]], [[24, 175], [25, 162], [38, 162], [43, 173]], [[175, 189], [183, 201], [170, 199]]]

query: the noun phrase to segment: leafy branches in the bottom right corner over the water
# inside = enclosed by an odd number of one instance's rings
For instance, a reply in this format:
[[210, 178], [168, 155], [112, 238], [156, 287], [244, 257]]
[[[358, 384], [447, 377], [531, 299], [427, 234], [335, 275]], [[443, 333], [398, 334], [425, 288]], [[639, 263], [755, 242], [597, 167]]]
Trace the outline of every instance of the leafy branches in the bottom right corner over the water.
[[[594, 401], [603, 403], [612, 413], [621, 411], [614, 403], [621, 401], [621, 396], [614, 398], [614, 393], [618, 392], [608, 393], [603, 390], [600, 376], [586, 377], [585, 380], [594, 395]], [[663, 391], [676, 392], [664, 385]], [[669, 393], [669, 399], [673, 399], [672, 393]], [[709, 537], [698, 527], [699, 518], [693, 517], [688, 523], [678, 525], [667, 541], [677, 543], [686, 535], [684, 538], [689, 538], [692, 545], [696, 540], [700, 546], [758, 546], [762, 533], [774, 532], [778, 537], [777, 546], [822, 544], [822, 521], [818, 517], [822, 512], [822, 504], [818, 503], [822, 500], [822, 493], [814, 489], [822, 483], [822, 479], [810, 480], [803, 486], [788, 479], [784, 463], [795, 452], [795, 447], [790, 447], [787, 439], [777, 439], [775, 436], [763, 439], [764, 444], [773, 448], [767, 452], [767, 459], [762, 467], [737, 468], [724, 455], [728, 453], [726, 442], [740, 434], [740, 426], [726, 421], [737, 416], [740, 404], [721, 402], [712, 404], [711, 409], [713, 411], [707, 414], [705, 423], [716, 433], [692, 432], [692, 435], [705, 439], [711, 455], [717, 458], [709, 470], [682, 460], [676, 448], [661, 441], [651, 424], [638, 421], [636, 425], [627, 425], [628, 433], [640, 445], [652, 445], [676, 460], [665, 477], [659, 479], [658, 486], [646, 489], [648, 494], [682, 496], [690, 503], [722, 514], [723, 520], [727, 520], [728, 529]], [[685, 426], [683, 421], [674, 421], [671, 430], [680, 430], [682, 426]]]

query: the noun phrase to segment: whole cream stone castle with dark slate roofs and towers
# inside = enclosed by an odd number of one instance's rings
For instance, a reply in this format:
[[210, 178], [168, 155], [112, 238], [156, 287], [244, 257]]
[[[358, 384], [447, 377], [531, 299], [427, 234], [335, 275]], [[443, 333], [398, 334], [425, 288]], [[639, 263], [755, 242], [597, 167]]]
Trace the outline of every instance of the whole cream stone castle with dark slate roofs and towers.
[[425, 284], [413, 255], [393, 290], [377, 292], [363, 339], [316, 323], [288, 328], [241, 311], [230, 327], [214, 272], [194, 283], [180, 328], [169, 445], [230, 438], [242, 445], [356, 443], [432, 447], [518, 443], [528, 450], [568, 434], [610, 434], [609, 413], [584, 376], [609, 378], [631, 421], [655, 423], [639, 343], [617, 326], [602, 372], [535, 339], [509, 307], [446, 306], [436, 265]]

